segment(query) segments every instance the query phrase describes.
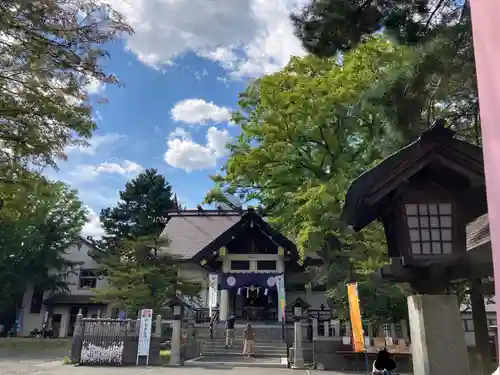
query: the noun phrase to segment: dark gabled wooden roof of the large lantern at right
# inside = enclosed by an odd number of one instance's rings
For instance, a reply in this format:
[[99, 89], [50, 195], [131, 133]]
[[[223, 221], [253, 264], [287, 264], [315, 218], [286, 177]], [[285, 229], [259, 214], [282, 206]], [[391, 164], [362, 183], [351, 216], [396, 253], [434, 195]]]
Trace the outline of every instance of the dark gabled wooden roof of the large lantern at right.
[[[438, 120], [410, 145], [369, 169], [349, 187], [342, 218], [361, 230], [377, 218], [377, 204], [432, 163], [440, 162], [459, 175], [484, 184], [481, 147], [454, 138], [454, 131]], [[370, 199], [370, 202], [368, 202]]]

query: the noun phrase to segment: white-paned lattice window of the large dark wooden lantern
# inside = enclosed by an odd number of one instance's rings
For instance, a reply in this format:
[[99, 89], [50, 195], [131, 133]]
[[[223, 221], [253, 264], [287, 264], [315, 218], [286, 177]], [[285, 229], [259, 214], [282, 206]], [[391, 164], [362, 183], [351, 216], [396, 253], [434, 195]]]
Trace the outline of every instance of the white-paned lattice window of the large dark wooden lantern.
[[451, 203], [406, 204], [406, 220], [413, 255], [451, 254]]

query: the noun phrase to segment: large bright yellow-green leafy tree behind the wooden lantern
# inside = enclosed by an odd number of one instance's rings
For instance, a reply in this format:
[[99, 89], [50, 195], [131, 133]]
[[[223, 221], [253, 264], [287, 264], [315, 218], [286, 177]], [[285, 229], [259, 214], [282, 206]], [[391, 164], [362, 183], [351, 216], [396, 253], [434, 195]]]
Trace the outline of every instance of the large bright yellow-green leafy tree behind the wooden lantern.
[[372, 37], [341, 62], [296, 58], [252, 83], [233, 116], [241, 135], [229, 146], [224, 172], [214, 177], [216, 188], [207, 196], [258, 200], [270, 223], [294, 238], [303, 253], [320, 251], [326, 266], [317, 281], [328, 285], [339, 312], [347, 302], [345, 284], [354, 279], [361, 295], [374, 290], [393, 301], [377, 305], [374, 319], [397, 318], [403, 311], [389, 307], [405, 304], [398, 287], [373, 288], [370, 274], [386, 261], [381, 228], [352, 233], [340, 213], [349, 183], [402, 144], [373, 98], [383, 97], [383, 83], [405, 69], [413, 53]]

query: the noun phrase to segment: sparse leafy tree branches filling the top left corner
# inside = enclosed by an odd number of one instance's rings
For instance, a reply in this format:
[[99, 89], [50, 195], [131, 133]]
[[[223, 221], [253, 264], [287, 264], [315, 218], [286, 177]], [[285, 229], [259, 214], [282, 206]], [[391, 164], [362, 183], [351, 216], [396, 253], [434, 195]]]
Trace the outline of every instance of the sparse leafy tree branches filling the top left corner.
[[103, 46], [132, 30], [94, 0], [0, 3], [0, 163], [55, 165], [92, 135], [87, 88], [118, 83]]

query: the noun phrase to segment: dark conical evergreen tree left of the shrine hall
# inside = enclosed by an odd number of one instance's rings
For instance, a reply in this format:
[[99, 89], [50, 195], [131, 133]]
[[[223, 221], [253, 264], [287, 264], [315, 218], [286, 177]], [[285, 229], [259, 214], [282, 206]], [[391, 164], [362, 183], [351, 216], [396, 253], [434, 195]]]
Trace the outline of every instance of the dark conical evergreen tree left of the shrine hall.
[[[178, 276], [176, 259], [165, 254], [168, 240], [159, 240], [168, 211], [177, 207], [171, 185], [155, 169], [147, 169], [125, 185], [115, 207], [101, 211], [105, 229], [95, 254], [110, 288], [97, 298], [136, 312], [158, 310], [176, 292], [191, 296], [199, 286]], [[163, 248], [163, 249], [162, 249]]]

